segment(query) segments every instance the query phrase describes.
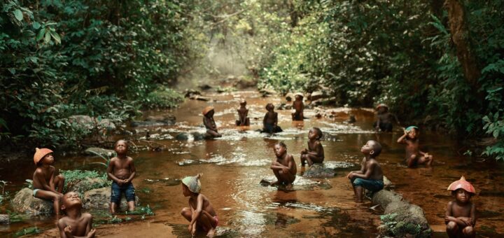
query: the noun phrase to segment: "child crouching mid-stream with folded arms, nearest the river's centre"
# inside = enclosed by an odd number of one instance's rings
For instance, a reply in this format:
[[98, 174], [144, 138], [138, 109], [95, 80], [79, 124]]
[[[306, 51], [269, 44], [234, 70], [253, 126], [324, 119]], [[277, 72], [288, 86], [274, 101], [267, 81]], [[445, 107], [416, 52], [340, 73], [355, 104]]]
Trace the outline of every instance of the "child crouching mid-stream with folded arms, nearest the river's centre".
[[273, 151], [276, 155], [276, 160], [273, 160], [270, 169], [273, 170], [277, 181], [272, 183], [272, 186], [279, 184], [286, 185], [286, 189], [292, 188], [292, 183], [295, 180], [297, 168], [292, 155], [287, 153], [287, 146], [283, 142], [276, 143]]

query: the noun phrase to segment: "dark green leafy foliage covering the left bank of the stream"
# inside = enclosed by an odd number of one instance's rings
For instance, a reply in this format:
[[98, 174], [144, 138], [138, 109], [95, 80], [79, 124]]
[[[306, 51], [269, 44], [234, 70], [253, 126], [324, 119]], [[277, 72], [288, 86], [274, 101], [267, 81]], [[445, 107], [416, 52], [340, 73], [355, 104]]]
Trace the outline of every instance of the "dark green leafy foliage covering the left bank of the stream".
[[[198, 56], [186, 41], [193, 5], [181, 1], [0, 3], [3, 143], [77, 146], [96, 132], [69, 116], [123, 122]], [[180, 102], [169, 95], [157, 106]]]

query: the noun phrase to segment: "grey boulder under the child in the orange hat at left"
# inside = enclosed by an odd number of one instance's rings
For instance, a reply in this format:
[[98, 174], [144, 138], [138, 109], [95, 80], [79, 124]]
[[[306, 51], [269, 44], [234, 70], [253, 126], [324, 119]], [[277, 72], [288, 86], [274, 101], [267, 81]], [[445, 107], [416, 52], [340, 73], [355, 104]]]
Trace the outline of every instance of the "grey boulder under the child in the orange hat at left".
[[31, 216], [52, 214], [52, 201], [41, 200], [33, 196], [33, 190], [23, 188], [16, 193], [12, 200], [14, 211], [20, 214], [29, 214]]

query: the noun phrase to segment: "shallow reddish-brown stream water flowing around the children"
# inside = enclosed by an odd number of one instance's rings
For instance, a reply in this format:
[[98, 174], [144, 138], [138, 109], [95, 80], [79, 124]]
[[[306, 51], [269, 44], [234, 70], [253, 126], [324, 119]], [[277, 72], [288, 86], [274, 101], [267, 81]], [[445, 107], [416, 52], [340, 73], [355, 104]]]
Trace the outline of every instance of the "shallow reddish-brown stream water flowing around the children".
[[[279, 98], [262, 98], [257, 92], [234, 92], [211, 95], [216, 102], [188, 100], [179, 109], [171, 111], [177, 124], [164, 127], [173, 136], [178, 132], [204, 132], [201, 111], [204, 106], [216, 108], [214, 116], [223, 138], [210, 141], [158, 141], [169, 150], [144, 151], [133, 154], [137, 167], [134, 185], [141, 204], [153, 207], [155, 216], [141, 221], [118, 225], [99, 225], [100, 237], [190, 237], [188, 222], [179, 214], [188, 206], [181, 186], [170, 186], [165, 179], [181, 179], [184, 176], [204, 174], [202, 193], [209, 197], [219, 216], [219, 228], [226, 237], [376, 237], [379, 216], [368, 209], [370, 203], [353, 202], [351, 185], [346, 174], [355, 168], [338, 169], [331, 179], [303, 179], [298, 176], [294, 191], [288, 193], [272, 187], [260, 186], [259, 181], [274, 176], [269, 169], [274, 158], [273, 145], [284, 141], [288, 153], [292, 153], [300, 166], [300, 151], [307, 146], [307, 132], [311, 127], [321, 127], [325, 134], [323, 146], [325, 161], [336, 166], [337, 162], [358, 165], [362, 155], [360, 147], [369, 139], [379, 140], [384, 151], [379, 162], [385, 175], [395, 185], [395, 190], [426, 212], [433, 230], [443, 237], [444, 208], [451, 200], [446, 190], [451, 181], [465, 176], [476, 188], [478, 195], [472, 201], [477, 204], [480, 236], [496, 237], [504, 234], [504, 167], [501, 164], [472, 162], [458, 154], [460, 146], [453, 139], [441, 134], [420, 135], [424, 151], [432, 153], [435, 165], [432, 169], [408, 169], [402, 165], [404, 148], [396, 144], [400, 130], [392, 134], [375, 134], [370, 124], [372, 113], [367, 110], [334, 109], [334, 118], [315, 119], [314, 110], [306, 110], [312, 118], [302, 123], [290, 120], [290, 111], [279, 112], [279, 125], [284, 132], [267, 136], [255, 132], [262, 127], [264, 106], [268, 102], [278, 104]], [[248, 102], [251, 127], [234, 126], [239, 99]], [[149, 112], [160, 115], [166, 112]], [[356, 115], [358, 122], [348, 125], [344, 120], [348, 113]], [[146, 115], [148, 116], [148, 115]], [[397, 128], [396, 128], [397, 129]], [[56, 158], [59, 169], [99, 169], [90, 162], [97, 159], [81, 156]], [[30, 160], [3, 165], [0, 179], [12, 181], [8, 190], [15, 193], [25, 179], [33, 173]], [[300, 172], [300, 169], [298, 169]], [[307, 190], [309, 188], [309, 190]], [[103, 212], [91, 211], [95, 217]], [[101, 215], [102, 214], [102, 215]], [[124, 216], [121, 216], [124, 217]], [[45, 230], [38, 237], [52, 237], [57, 231], [52, 218], [32, 219], [0, 226], [1, 236], [13, 236], [14, 232], [36, 225]], [[50, 229], [52, 228], [52, 229]]]

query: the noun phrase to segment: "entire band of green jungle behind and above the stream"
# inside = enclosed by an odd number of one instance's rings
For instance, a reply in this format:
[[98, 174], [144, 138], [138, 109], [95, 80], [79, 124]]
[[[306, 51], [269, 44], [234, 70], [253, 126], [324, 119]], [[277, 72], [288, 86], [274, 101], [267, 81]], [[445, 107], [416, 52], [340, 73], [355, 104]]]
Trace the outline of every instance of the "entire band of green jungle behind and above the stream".
[[[75, 148], [74, 115], [121, 125], [223, 77], [386, 103], [402, 122], [484, 141], [504, 160], [504, 1], [0, 0], [2, 148]], [[467, 153], [471, 153], [468, 151]]]

